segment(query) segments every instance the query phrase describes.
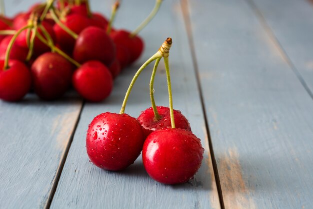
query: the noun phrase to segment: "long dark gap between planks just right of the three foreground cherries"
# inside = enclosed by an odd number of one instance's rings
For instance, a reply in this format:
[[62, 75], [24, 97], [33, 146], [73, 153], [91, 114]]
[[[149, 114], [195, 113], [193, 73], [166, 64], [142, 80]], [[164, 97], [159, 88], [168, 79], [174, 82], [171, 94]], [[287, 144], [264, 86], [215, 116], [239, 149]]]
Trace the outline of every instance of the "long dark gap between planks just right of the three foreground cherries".
[[216, 187], [217, 187], [219, 204], [220, 204], [221, 209], [225, 209], [222, 191], [221, 191], [221, 186], [220, 186], [220, 181], [219, 181], [217, 165], [216, 165], [216, 160], [215, 160], [215, 156], [214, 156], [213, 145], [212, 145], [211, 136], [210, 136], [210, 132], [209, 132], [207, 115], [206, 115], [206, 111], [205, 111], [205, 107], [204, 107], [204, 100], [203, 100], [203, 95], [202, 95], [203, 91], [201, 88], [200, 74], [198, 71], [198, 65], [197, 65], [196, 56], [195, 56], [195, 49], [194, 49], [195, 46], [193, 43], [193, 37], [192, 37], [192, 32], [191, 32], [192, 28], [191, 28], [191, 21], [190, 21], [188, 4], [189, 4], [188, 0], [180, 0], [180, 6], [181, 6], [182, 15], [183, 15], [183, 20], [185, 23], [184, 25], [185, 25], [185, 30], [187, 33], [188, 44], [190, 46], [190, 51], [191, 51], [191, 59], [192, 59], [192, 65], [193, 65], [194, 74], [195, 74], [195, 78], [196, 78], [196, 84], [197, 84], [197, 88], [198, 88], [198, 91], [200, 94], [201, 107], [202, 107], [202, 112], [203, 112], [203, 117], [204, 117], [204, 122], [205, 122], [206, 135], [207, 135], [209, 152], [210, 152], [213, 171], [214, 171], [214, 177], [215, 177], [215, 182], [216, 182]]

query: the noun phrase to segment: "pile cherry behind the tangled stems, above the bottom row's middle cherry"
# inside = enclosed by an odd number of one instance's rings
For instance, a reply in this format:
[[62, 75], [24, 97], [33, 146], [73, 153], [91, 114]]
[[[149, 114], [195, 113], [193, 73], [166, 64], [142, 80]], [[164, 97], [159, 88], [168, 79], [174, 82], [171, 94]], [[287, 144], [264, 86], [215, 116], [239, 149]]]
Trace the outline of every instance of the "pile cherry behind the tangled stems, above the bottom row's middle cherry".
[[[26, 25], [26, 22], [25, 22], [24, 26], [25, 25]], [[50, 35], [53, 42], [55, 42], [56, 39], [55, 39], [55, 34], [53, 32], [52, 26], [45, 21], [41, 22], [41, 25], [48, 32], [48, 34]], [[38, 29], [38, 32], [41, 36], [44, 37], [44, 35], [42, 34], [40, 29]], [[30, 36], [31, 36], [31, 34], [32, 33], [30, 32]], [[19, 34], [19, 36], [17, 36], [16, 44], [18, 44], [19, 46], [21, 46], [23, 48], [28, 48], [26, 38], [27, 38], [27, 30], [24, 30]], [[46, 46], [45, 44], [43, 44], [38, 38], [35, 38], [34, 45], [33, 45], [34, 56], [39, 56], [39, 55], [43, 54], [44, 52], [48, 52], [48, 51], [50, 51], [50, 48], [48, 46]]]

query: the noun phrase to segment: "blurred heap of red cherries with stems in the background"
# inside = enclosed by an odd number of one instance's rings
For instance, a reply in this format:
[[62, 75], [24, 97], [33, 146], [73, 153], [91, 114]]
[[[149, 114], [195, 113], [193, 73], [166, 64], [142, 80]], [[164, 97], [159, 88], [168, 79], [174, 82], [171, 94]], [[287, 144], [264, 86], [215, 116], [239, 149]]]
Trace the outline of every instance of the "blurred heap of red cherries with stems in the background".
[[18, 101], [33, 90], [54, 100], [70, 86], [88, 101], [109, 96], [113, 79], [138, 59], [143, 41], [138, 30], [112, 28], [118, 1], [109, 21], [88, 5], [48, 0], [13, 19], [0, 17], [0, 99]]

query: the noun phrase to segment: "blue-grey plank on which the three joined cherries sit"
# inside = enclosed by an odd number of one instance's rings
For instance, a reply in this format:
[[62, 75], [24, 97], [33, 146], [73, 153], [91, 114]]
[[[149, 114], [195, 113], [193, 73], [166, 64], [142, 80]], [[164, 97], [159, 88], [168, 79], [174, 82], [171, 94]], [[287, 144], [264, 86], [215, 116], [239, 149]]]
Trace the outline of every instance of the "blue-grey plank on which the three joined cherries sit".
[[[153, 7], [151, 1], [123, 1], [116, 25], [133, 29]], [[106, 4], [106, 7], [109, 6]], [[135, 14], [135, 15], [134, 15]], [[166, 37], [173, 38], [169, 62], [174, 108], [189, 119], [193, 132], [205, 148], [202, 166], [194, 179], [182, 185], [160, 184], [147, 175], [141, 156], [124, 171], [109, 172], [88, 162], [85, 135], [88, 123], [101, 112], [118, 112], [132, 75], [156, 52]], [[146, 43], [142, 58], [125, 69], [115, 81], [112, 95], [102, 104], [85, 104], [51, 208], [220, 208], [208, 153], [204, 118], [192, 67], [179, 1], [164, 1], [159, 14], [142, 31]], [[158, 105], [168, 105], [163, 63], [155, 81]], [[126, 113], [137, 117], [150, 106], [148, 83], [152, 65], [138, 79]]]

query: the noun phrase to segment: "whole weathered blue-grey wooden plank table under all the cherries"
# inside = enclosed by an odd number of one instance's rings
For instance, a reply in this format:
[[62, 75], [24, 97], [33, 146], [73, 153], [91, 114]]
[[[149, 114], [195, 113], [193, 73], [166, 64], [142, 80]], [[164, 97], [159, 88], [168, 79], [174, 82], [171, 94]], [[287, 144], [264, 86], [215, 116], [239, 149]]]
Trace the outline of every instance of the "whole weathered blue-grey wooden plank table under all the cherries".
[[[7, 14], [34, 1], [6, 1]], [[108, 15], [111, 1], [91, 0]], [[153, 1], [123, 1], [116, 27], [134, 29]], [[99, 104], [76, 94], [0, 101], [0, 208], [313, 208], [313, 6], [307, 0], [172, 0], [142, 33], [145, 52]], [[135, 70], [166, 37], [174, 108], [205, 148], [194, 179], [163, 185], [141, 157], [121, 172], [88, 161], [92, 118], [118, 112]], [[164, 67], [155, 81], [167, 106]], [[150, 106], [150, 66], [126, 112]]]

